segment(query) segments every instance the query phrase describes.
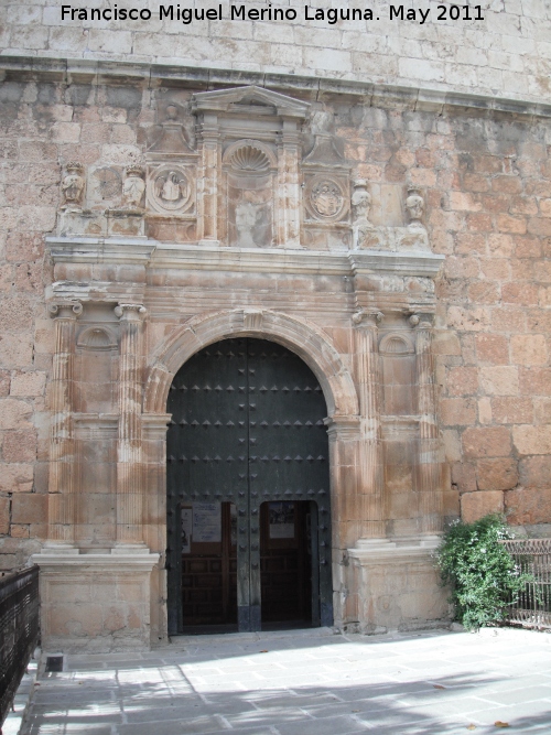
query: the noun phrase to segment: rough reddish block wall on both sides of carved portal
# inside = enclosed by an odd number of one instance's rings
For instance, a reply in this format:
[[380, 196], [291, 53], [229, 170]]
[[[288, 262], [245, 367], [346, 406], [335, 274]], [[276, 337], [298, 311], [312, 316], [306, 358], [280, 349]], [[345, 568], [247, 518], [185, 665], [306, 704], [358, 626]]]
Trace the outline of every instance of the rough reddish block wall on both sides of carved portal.
[[[45, 537], [54, 328], [43, 235], [62, 164], [139, 161], [161, 94], [17, 74], [0, 88], [0, 569]], [[354, 177], [423, 190], [433, 249], [446, 256], [434, 350], [456, 490], [447, 515], [460, 497], [467, 520], [506, 510], [514, 523], [551, 521], [551, 120], [353, 96], [326, 109]]]

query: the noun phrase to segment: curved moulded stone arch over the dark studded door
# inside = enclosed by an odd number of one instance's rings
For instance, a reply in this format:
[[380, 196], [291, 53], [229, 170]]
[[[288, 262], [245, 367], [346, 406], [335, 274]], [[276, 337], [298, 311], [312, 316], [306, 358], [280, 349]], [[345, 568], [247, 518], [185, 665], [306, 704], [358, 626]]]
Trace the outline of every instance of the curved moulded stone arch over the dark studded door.
[[174, 376], [195, 353], [229, 337], [271, 339], [301, 357], [320, 381], [331, 418], [357, 417], [352, 376], [327, 336], [312, 322], [268, 310], [239, 309], [194, 316], [173, 329], [149, 365], [144, 413], [164, 413]]

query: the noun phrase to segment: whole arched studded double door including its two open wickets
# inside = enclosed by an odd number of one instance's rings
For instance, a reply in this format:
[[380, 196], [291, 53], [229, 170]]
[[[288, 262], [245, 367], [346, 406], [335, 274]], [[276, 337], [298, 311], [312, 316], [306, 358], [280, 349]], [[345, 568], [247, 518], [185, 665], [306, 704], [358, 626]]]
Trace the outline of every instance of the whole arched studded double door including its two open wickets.
[[326, 406], [293, 353], [197, 353], [168, 411], [169, 631], [333, 623]]

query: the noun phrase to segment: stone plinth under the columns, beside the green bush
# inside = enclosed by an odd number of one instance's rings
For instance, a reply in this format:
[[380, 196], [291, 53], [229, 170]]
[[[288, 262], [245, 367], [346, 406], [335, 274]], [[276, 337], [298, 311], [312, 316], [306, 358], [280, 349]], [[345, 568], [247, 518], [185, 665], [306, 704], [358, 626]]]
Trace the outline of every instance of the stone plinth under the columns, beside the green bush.
[[434, 536], [360, 539], [349, 549], [348, 627], [372, 634], [445, 624], [447, 591], [432, 558], [439, 543]]

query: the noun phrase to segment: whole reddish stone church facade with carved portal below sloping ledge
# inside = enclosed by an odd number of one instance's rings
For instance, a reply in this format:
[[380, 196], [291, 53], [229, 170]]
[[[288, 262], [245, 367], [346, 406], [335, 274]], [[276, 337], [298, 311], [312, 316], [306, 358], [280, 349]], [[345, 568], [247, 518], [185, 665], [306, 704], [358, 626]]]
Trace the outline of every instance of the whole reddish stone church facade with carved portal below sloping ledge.
[[304, 516], [312, 624], [443, 625], [445, 522], [551, 522], [551, 107], [60, 55], [0, 58], [0, 559], [45, 645], [179, 633], [201, 502], [238, 629], [262, 502]]

